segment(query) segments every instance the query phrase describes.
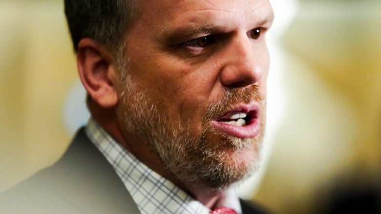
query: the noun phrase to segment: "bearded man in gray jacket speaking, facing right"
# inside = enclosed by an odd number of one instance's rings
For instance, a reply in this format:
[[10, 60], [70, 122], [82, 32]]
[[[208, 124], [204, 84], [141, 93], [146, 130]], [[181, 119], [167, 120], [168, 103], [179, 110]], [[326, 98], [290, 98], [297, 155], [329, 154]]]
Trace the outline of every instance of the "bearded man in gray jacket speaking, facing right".
[[234, 187], [255, 172], [265, 127], [268, 0], [65, 0], [65, 13], [92, 117], [0, 205], [260, 212]]

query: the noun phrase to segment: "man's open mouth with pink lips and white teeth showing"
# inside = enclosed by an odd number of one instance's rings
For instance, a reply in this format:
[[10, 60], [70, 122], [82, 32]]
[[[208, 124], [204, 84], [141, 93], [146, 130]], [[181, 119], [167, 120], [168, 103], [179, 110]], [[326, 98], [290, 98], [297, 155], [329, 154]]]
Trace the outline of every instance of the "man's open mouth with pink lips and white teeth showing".
[[225, 116], [212, 121], [212, 126], [227, 135], [251, 138], [259, 134], [259, 110], [257, 104], [241, 105]]

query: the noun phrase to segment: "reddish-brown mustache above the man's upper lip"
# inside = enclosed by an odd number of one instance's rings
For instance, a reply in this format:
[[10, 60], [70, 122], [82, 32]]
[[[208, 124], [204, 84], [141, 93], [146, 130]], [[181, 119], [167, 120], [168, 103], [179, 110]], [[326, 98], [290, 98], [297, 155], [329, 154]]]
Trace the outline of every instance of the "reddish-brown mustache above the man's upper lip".
[[207, 122], [223, 116], [232, 111], [234, 106], [239, 103], [250, 103], [252, 101], [261, 102], [263, 97], [259, 93], [257, 85], [251, 85], [248, 88], [227, 88], [222, 97], [215, 103], [211, 103], [203, 117], [203, 121]]

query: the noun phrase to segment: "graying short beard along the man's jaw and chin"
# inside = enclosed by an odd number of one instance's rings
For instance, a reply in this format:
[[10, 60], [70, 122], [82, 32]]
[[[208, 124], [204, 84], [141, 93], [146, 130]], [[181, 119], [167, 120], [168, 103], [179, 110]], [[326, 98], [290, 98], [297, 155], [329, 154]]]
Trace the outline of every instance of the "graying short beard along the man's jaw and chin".
[[[235, 182], [249, 178], [257, 170], [262, 134], [255, 138], [241, 139], [216, 132], [207, 118], [213, 112], [211, 105], [210, 111], [203, 118], [202, 134], [192, 137], [188, 121], [170, 124], [171, 118], [168, 118], [166, 112], [158, 111], [147, 91], [140, 90], [138, 84], [125, 79], [124, 91], [120, 97], [124, 131], [133, 133], [148, 143], [166, 169], [180, 181], [221, 191]], [[264, 124], [261, 125], [263, 127]], [[221, 140], [212, 142], [208, 139], [212, 134]], [[235, 160], [226, 154], [227, 148], [234, 151], [253, 145], [255, 153], [250, 159]]]

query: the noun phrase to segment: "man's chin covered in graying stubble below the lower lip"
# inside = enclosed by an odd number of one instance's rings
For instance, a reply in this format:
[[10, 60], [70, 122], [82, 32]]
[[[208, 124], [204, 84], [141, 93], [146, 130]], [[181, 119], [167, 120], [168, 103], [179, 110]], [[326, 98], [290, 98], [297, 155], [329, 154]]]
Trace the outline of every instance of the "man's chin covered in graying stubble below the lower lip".
[[194, 179], [189, 182], [220, 191], [248, 179], [258, 168], [259, 142], [259, 136], [245, 139], [204, 136], [194, 150], [188, 151], [189, 160], [198, 163], [192, 169]]

